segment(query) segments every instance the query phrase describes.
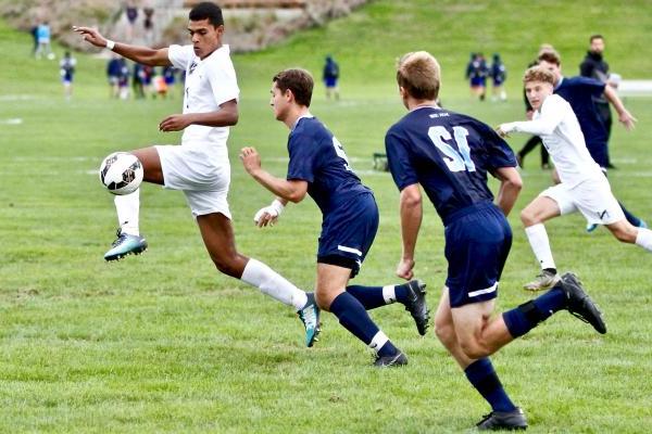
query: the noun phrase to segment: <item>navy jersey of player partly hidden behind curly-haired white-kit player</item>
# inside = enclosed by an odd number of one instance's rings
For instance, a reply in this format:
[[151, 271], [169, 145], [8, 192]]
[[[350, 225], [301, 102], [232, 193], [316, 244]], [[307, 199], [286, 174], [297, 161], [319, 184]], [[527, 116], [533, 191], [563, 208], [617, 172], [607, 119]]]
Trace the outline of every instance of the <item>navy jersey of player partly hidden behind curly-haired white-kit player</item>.
[[604, 82], [593, 78], [564, 77], [554, 89], [554, 93], [568, 101], [573, 107], [589, 151], [595, 145], [606, 144], [609, 140], [606, 127], [600, 118], [594, 102], [595, 98], [604, 93]]

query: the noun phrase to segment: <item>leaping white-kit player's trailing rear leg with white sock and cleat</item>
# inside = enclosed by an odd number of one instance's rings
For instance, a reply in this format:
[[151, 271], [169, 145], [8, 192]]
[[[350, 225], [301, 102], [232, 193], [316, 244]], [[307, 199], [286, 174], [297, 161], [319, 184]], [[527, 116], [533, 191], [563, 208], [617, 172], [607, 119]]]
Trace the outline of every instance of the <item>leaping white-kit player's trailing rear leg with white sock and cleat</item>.
[[314, 296], [301, 291], [265, 264], [238, 253], [230, 219], [224, 214], [200, 215], [197, 224], [215, 267], [274, 299], [293, 306], [305, 327], [305, 344], [312, 346], [319, 333], [319, 310]]

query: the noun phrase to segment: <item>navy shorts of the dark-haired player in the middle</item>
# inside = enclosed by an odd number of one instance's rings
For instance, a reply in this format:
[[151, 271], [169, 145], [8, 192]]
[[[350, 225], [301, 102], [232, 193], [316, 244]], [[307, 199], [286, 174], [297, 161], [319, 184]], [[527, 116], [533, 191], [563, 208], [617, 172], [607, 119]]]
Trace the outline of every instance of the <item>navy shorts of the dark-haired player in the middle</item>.
[[378, 206], [372, 193], [362, 193], [346, 207], [328, 214], [322, 224], [317, 263], [360, 271], [378, 231]]

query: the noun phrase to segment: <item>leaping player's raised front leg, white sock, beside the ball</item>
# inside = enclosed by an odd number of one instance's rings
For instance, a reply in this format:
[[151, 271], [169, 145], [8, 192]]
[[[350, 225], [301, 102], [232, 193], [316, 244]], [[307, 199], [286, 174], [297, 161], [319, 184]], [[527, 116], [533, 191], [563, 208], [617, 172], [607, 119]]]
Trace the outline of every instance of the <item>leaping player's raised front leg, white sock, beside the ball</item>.
[[[161, 158], [154, 146], [131, 151], [131, 154], [142, 165], [142, 180], [147, 182], [163, 184], [163, 170]], [[104, 254], [105, 260], [121, 259], [127, 255], [138, 255], [147, 250], [147, 240], [140, 235], [140, 189], [125, 195], [116, 195], [114, 199], [117, 213], [117, 238], [111, 248]]]

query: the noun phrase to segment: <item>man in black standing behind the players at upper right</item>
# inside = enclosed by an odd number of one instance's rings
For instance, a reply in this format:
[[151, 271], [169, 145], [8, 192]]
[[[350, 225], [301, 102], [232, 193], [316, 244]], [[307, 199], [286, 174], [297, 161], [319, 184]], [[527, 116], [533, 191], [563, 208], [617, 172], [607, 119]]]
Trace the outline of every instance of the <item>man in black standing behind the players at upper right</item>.
[[[589, 43], [590, 47], [587, 56], [579, 65], [579, 75], [582, 77], [594, 78], [600, 82], [615, 87], [614, 84], [609, 80], [609, 63], [604, 61], [602, 54], [604, 52], [604, 38], [602, 35], [591, 35]], [[604, 98], [604, 94], [593, 98], [593, 101], [595, 102], [595, 108], [598, 108], [600, 118], [606, 127], [606, 167], [614, 168], [609, 156], [609, 140], [611, 138], [612, 127], [612, 114], [609, 101]]]

